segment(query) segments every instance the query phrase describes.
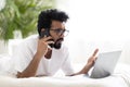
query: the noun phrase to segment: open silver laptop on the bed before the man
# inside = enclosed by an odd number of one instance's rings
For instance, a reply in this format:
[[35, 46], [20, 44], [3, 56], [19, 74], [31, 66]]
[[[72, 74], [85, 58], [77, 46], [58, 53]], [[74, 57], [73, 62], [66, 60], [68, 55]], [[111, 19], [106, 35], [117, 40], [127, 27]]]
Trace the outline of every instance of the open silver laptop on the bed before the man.
[[121, 51], [112, 51], [100, 53], [93, 70], [91, 72], [91, 78], [103, 78], [113, 74], [117, 61], [121, 54]]

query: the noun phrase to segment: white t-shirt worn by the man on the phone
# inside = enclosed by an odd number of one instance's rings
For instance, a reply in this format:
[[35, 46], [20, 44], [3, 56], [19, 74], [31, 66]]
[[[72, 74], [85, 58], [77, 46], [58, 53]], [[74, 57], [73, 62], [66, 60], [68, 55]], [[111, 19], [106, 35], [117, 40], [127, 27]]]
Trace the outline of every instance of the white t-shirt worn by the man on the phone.
[[[30, 36], [17, 45], [17, 49], [13, 54], [15, 74], [23, 72], [32, 60], [38, 45], [38, 36]], [[74, 74], [70, 64], [69, 53], [67, 48], [62, 45], [61, 49], [52, 49], [51, 59], [42, 57], [36, 75], [54, 75], [58, 70], [63, 70], [65, 75]]]

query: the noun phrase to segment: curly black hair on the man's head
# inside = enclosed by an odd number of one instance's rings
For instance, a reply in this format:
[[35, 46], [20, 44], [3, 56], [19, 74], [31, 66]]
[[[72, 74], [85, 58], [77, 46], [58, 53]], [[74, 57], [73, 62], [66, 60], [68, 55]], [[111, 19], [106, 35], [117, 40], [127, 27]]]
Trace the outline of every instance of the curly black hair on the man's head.
[[69, 17], [65, 12], [58, 11], [57, 9], [41, 11], [38, 17], [38, 25], [37, 25], [39, 35], [42, 28], [50, 29], [53, 20], [60, 22], [66, 22], [68, 18]]

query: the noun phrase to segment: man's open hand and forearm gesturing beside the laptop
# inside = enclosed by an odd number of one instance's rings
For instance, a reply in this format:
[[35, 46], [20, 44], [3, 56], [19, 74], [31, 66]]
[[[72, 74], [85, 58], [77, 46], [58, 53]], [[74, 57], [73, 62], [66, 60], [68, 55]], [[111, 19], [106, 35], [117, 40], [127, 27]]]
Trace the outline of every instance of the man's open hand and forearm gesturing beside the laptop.
[[88, 74], [89, 70], [94, 65], [94, 62], [96, 60], [96, 53], [99, 52], [99, 49], [95, 49], [93, 54], [89, 58], [88, 63], [83, 66], [81, 71], [78, 73], [72, 74], [70, 76], [79, 75], [79, 74]]

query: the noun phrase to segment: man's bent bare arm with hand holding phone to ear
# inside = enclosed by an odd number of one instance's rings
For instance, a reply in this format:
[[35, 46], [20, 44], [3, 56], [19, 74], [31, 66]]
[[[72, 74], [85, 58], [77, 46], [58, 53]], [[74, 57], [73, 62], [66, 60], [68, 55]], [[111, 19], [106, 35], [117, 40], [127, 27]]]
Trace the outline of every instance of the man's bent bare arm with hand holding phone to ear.
[[17, 72], [17, 77], [31, 77], [36, 76], [36, 72], [38, 70], [38, 65], [40, 63], [41, 58], [48, 52], [48, 44], [53, 44], [52, 41], [48, 41], [52, 37], [44, 37], [38, 40], [37, 52], [30, 61], [29, 65], [23, 71]]

